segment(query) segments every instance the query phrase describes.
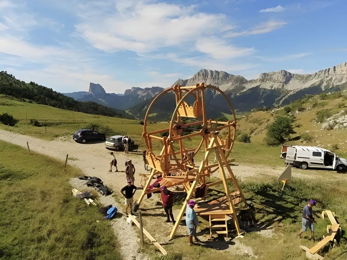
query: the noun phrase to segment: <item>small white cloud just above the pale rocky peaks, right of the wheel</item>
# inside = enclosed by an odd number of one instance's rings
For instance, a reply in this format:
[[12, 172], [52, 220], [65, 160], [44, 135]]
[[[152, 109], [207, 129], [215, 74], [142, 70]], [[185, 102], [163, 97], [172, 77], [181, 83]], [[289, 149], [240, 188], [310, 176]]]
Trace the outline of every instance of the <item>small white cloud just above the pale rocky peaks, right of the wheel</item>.
[[254, 48], [240, 48], [234, 45], [228, 45], [226, 41], [215, 37], [198, 40], [195, 46], [199, 51], [210, 55], [214, 59], [232, 59], [255, 52]]

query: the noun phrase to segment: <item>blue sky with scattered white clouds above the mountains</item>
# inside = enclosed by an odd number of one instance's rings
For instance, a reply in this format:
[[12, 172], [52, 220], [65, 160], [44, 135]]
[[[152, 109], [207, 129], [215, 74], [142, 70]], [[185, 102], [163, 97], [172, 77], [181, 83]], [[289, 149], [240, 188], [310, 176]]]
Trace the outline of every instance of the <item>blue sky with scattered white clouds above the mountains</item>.
[[0, 70], [59, 92], [254, 79], [347, 61], [347, 1], [0, 0]]

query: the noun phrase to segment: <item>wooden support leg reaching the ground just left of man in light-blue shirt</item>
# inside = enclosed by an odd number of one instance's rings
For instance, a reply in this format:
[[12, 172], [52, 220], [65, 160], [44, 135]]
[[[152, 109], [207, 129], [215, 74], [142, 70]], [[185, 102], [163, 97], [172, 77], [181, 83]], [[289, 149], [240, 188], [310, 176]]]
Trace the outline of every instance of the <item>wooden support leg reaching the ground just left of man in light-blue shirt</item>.
[[[210, 145], [209, 145], [209, 148], [213, 147], [215, 140], [216, 140], [216, 139], [215, 139], [214, 137], [212, 137], [211, 142], [210, 142]], [[178, 226], [179, 226], [179, 223], [181, 222], [182, 217], [183, 217], [183, 214], [184, 214], [185, 211], [186, 211], [187, 203], [188, 203], [188, 201], [192, 198], [192, 194], [193, 194], [193, 192], [195, 191], [196, 185], [197, 185], [197, 183], [198, 183], [198, 181], [199, 181], [199, 179], [200, 179], [200, 175], [201, 175], [201, 173], [202, 173], [202, 171], [203, 171], [203, 168], [204, 168], [204, 166], [205, 166], [206, 161], [207, 161], [208, 158], [209, 158], [210, 153], [211, 153], [211, 149], [209, 149], [209, 150], [206, 151], [206, 153], [205, 153], [205, 157], [204, 157], [203, 161], [202, 161], [201, 164], [200, 164], [200, 167], [199, 167], [198, 172], [196, 173], [195, 180], [193, 181], [193, 184], [192, 184], [191, 188], [189, 189], [189, 192], [188, 192], [188, 194], [187, 194], [187, 198], [184, 200], [183, 206], [182, 206], [182, 208], [181, 208], [181, 210], [180, 210], [178, 216], [176, 217], [175, 226], [174, 226], [174, 228], [172, 229], [171, 234], [170, 234], [170, 237], [171, 237], [171, 238], [174, 237], [175, 234], [176, 234], [176, 231], [177, 231], [177, 228], [178, 228]]]

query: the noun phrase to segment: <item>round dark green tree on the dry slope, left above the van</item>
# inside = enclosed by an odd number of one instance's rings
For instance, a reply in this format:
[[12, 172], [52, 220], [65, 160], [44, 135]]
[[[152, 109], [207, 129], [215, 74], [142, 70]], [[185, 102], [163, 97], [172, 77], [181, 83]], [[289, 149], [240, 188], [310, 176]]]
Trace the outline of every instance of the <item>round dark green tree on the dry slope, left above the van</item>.
[[274, 146], [283, 144], [292, 133], [293, 130], [293, 120], [287, 116], [279, 116], [275, 121], [269, 125], [268, 132], [266, 133], [266, 144]]

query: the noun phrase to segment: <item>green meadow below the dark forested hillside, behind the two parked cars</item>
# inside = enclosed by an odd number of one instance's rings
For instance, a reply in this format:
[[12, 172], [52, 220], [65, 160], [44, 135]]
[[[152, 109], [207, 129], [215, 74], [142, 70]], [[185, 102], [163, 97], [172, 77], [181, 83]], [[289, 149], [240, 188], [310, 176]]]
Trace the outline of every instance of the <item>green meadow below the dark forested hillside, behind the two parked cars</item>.
[[[51, 106], [31, 104], [11, 100], [0, 96], [1, 113], [12, 114], [20, 121], [15, 127], [0, 124], [0, 129], [16, 132], [22, 135], [29, 135], [45, 140], [54, 140], [58, 137], [71, 137], [72, 134], [90, 123], [98, 123], [109, 126], [115, 132], [125, 132], [135, 140], [142, 149], [145, 144], [142, 138], [143, 125], [138, 120], [129, 120], [121, 118], [112, 118], [101, 115], [84, 114], [68, 110], [57, 109]], [[30, 119], [37, 119], [40, 123], [49, 124], [45, 127], [35, 127], [30, 124]], [[147, 129], [153, 131], [158, 127], [166, 127], [163, 124], [159, 126], [149, 123]]]

